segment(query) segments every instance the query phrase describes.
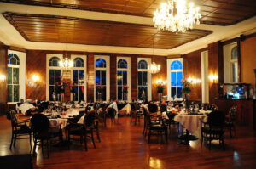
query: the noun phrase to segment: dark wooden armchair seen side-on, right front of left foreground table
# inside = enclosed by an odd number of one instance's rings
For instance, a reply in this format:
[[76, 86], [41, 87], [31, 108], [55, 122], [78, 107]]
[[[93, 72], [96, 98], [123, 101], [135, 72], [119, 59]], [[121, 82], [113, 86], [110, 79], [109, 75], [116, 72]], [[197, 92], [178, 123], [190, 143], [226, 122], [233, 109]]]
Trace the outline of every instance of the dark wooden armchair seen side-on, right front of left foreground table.
[[[68, 128], [68, 141], [70, 142], [70, 136], [79, 136], [80, 142], [84, 138], [84, 148], [87, 151], [87, 138], [90, 137], [93, 143], [94, 149], [96, 145], [93, 137], [93, 127], [95, 125], [95, 111], [90, 111], [84, 116], [84, 124], [73, 124], [73, 127]], [[69, 149], [69, 144], [68, 144]]]

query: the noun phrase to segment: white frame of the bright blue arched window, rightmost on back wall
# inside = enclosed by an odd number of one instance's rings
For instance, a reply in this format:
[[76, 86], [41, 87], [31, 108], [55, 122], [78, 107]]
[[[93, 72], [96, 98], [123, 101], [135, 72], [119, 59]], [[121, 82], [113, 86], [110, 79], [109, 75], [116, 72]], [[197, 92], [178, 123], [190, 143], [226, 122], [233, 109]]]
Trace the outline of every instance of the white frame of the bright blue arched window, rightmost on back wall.
[[[167, 59], [167, 87], [168, 87], [167, 88], [167, 96], [168, 96], [168, 100], [172, 100], [172, 90], [171, 90], [171, 87], [172, 87], [171, 74], [172, 74], [172, 72], [181, 71], [183, 73], [183, 68], [181, 70], [180, 69], [179, 70], [171, 70], [172, 62], [174, 62], [176, 60], [180, 61], [182, 63], [182, 66], [183, 66], [183, 58]], [[183, 93], [183, 97], [184, 97], [184, 93]], [[177, 98], [176, 97], [175, 100], [183, 100], [183, 97], [182, 98]]]

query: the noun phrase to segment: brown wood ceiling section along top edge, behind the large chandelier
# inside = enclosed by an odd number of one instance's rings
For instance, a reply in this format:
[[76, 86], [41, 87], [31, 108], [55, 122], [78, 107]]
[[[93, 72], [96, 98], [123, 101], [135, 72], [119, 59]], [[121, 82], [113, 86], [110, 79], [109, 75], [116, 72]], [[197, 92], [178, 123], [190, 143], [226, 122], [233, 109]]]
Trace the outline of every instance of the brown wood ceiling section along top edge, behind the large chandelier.
[[[166, 0], [0, 0], [58, 8], [76, 8], [114, 14], [152, 17], [160, 3]], [[188, 0], [201, 8], [201, 23], [233, 25], [256, 15], [255, 0]]]

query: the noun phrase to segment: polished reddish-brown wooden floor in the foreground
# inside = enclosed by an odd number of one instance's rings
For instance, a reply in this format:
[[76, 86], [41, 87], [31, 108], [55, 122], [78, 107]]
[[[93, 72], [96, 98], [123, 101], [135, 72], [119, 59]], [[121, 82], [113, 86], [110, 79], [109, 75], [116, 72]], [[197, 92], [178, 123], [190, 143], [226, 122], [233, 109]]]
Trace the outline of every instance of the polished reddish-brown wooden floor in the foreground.
[[[34, 168], [255, 168], [256, 132], [246, 127], [237, 127], [236, 138], [225, 133], [225, 150], [218, 143], [212, 150], [201, 145], [201, 140], [190, 145], [177, 144], [177, 128], [172, 127], [168, 144], [165, 139], [153, 137], [148, 144], [143, 137], [143, 122], [134, 126], [130, 117], [120, 117], [115, 123], [108, 120], [107, 128], [101, 127], [102, 143], [91, 142], [88, 152], [79, 142], [58, 149], [51, 147], [49, 159], [42, 156], [33, 158]], [[30, 153], [27, 140], [18, 140], [16, 148], [9, 150], [10, 121], [0, 117], [0, 155]]]

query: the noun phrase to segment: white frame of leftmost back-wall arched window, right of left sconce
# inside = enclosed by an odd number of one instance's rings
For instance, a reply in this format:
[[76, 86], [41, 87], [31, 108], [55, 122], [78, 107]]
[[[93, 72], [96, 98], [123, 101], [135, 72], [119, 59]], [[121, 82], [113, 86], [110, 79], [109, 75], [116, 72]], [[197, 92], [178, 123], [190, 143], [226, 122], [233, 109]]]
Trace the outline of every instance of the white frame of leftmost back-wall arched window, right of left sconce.
[[49, 66], [49, 59], [52, 57], [57, 57], [59, 59], [63, 59], [63, 54], [46, 54], [46, 100], [49, 101], [49, 70], [61, 70], [62, 75], [62, 69], [60, 66]]

